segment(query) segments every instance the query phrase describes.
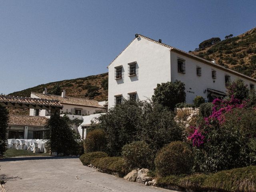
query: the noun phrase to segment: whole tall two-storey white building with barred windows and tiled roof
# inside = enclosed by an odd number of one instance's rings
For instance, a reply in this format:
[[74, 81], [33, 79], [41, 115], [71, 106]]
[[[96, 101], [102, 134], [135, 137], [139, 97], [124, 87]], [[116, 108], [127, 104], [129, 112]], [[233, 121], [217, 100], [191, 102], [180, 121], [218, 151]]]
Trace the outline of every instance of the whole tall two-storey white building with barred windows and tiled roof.
[[132, 42], [108, 66], [108, 108], [122, 99], [145, 100], [158, 83], [185, 83], [186, 102], [196, 96], [206, 101], [224, 96], [226, 84], [240, 79], [254, 90], [256, 80], [188, 52], [136, 34]]

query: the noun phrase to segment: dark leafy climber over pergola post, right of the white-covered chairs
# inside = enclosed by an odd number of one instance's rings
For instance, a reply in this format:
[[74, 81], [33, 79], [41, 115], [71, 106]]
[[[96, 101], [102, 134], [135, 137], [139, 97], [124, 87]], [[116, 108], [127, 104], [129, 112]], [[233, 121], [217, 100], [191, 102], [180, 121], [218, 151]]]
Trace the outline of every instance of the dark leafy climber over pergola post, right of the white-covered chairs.
[[78, 155], [82, 150], [80, 135], [72, 130], [68, 120], [66, 116], [51, 116], [46, 125], [46, 144], [51, 152]]

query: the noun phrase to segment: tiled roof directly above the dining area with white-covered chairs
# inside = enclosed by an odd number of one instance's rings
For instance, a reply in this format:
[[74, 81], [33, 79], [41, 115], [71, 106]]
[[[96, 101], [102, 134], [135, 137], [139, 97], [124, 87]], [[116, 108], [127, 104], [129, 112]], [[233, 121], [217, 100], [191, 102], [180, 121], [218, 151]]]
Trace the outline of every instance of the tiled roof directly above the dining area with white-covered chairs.
[[9, 126], [44, 127], [46, 124], [47, 118], [43, 116], [9, 115]]

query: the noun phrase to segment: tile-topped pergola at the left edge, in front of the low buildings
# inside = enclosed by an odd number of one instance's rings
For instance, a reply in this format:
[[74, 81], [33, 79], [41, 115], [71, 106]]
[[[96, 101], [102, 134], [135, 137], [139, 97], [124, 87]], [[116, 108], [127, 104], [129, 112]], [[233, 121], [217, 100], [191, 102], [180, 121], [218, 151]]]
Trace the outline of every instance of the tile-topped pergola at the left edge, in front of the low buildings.
[[3, 107], [46, 109], [51, 111], [51, 116], [60, 116], [60, 109], [63, 108], [62, 104], [60, 104], [58, 100], [6, 95], [0, 95], [0, 105]]

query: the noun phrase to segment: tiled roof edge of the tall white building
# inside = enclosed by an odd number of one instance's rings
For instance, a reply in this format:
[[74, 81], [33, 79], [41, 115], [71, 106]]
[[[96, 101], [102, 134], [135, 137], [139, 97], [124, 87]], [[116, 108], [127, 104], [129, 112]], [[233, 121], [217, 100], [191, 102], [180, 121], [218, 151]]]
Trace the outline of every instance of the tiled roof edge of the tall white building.
[[[252, 80], [252, 81], [256, 82], [256, 79], [254, 79], [254, 78], [252, 78], [252, 77], [249, 77], [249, 76], [247, 76], [247, 75], [245, 75], [245, 74], [239, 73], [239, 72], [234, 71], [234, 70], [232, 70], [232, 69], [226, 68], [226, 67], [224, 67], [224, 66], [221, 66], [221, 65], [219, 65], [219, 64], [216, 64], [216, 63], [214, 63], [214, 62], [211, 62], [211, 61], [209, 61], [209, 60], [207, 60], [207, 59], [204, 59], [204, 58], [202, 58], [202, 57], [196, 56], [196, 55], [194, 55], [194, 54], [188, 53], [188, 52], [186, 52], [186, 51], [183, 51], [183, 50], [180, 50], [180, 49], [178, 49], [178, 48], [172, 47], [172, 46], [170, 46], [170, 45], [164, 44], [164, 43], [162, 43], [162, 42], [160, 43], [160, 42], [158, 42], [157, 40], [148, 38], [148, 37], [143, 36], [143, 35], [141, 35], [141, 34], [138, 34], [138, 37], [144, 38], [144, 39], [149, 40], [149, 41], [151, 41], [151, 42], [154, 42], [154, 43], [156, 43], [156, 44], [160, 44], [160, 45], [162, 45], [162, 46], [165, 46], [165, 47], [167, 47], [167, 48], [170, 48], [170, 51], [178, 52], [179, 54], [183, 54], [183, 55], [185, 55], [185, 56], [187, 56], [187, 57], [190, 57], [190, 58], [192, 58], [192, 59], [198, 60], [198, 61], [200, 61], [200, 62], [204, 62], [204, 63], [206, 63], [206, 64], [209, 64], [209, 65], [213, 66], [213, 67], [220, 68], [220, 69], [222, 69], [222, 70], [224, 70], [224, 71], [227, 71], [227, 72], [236, 74], [236, 75], [238, 75], [238, 76], [241, 76], [241, 77], [244, 77], [244, 78], [246, 78], [246, 79], [249, 79], [249, 80]], [[132, 42], [133, 42], [135, 39], [136, 39], [136, 38], [134, 38], [134, 39], [132, 40]], [[128, 46], [129, 46], [132, 42], [130, 42], [130, 43], [128, 44]], [[127, 48], [128, 46], [126, 46], [126, 48]], [[126, 48], [124, 48], [124, 50], [125, 50]], [[122, 50], [122, 52], [123, 52], [124, 50]], [[122, 54], [122, 52], [121, 52], [120, 54]], [[120, 54], [119, 54], [119, 55], [120, 55]], [[118, 56], [119, 56], [119, 55], [118, 55]], [[118, 58], [118, 56], [116, 56], [116, 58]], [[116, 60], [116, 58], [114, 58], [114, 60]], [[113, 60], [112, 62], [114, 62], [114, 60]], [[108, 66], [110, 66], [110, 65], [112, 64], [112, 62], [111, 62]]]

